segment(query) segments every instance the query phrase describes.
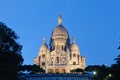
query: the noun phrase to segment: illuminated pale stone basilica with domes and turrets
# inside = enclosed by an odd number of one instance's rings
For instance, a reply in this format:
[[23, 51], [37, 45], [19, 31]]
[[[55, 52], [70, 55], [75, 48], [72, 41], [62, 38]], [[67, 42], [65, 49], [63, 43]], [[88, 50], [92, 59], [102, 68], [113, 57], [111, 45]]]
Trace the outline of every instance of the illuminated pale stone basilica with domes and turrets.
[[46, 73], [70, 73], [73, 69], [85, 69], [86, 58], [80, 55], [75, 37], [70, 39], [67, 29], [62, 24], [62, 16], [58, 16], [58, 25], [52, 31], [49, 46], [46, 38], [43, 38], [34, 64], [45, 69]]

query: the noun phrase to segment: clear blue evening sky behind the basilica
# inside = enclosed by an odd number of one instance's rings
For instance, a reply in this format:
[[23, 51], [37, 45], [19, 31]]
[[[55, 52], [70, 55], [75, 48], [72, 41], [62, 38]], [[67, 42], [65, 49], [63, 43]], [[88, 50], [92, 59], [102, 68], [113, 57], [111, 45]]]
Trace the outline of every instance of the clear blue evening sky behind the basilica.
[[0, 21], [20, 37], [24, 64], [33, 64], [44, 36], [49, 44], [59, 14], [87, 65], [114, 63], [120, 53], [120, 0], [0, 0]]

